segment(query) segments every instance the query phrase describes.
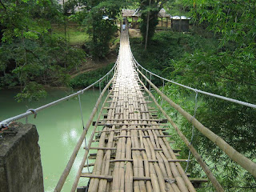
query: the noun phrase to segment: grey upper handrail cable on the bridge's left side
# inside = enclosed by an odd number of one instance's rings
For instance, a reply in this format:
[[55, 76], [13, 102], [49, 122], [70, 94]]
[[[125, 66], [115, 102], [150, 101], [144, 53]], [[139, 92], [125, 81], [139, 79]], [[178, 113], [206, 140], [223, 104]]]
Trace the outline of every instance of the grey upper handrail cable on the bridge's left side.
[[112, 69], [107, 73], [105, 74], [102, 78], [99, 78], [98, 81], [90, 84], [90, 86], [87, 86], [86, 88], [84, 88], [83, 90], [78, 90], [78, 92], [74, 93], [74, 94], [70, 94], [64, 98], [60, 98], [54, 102], [50, 102], [44, 106], [39, 106], [38, 108], [36, 109], [30, 109], [30, 110], [27, 110], [26, 113], [23, 113], [23, 114], [18, 114], [12, 118], [7, 118], [5, 120], [3, 120], [2, 122], [0, 122], [0, 127], [3, 126], [3, 127], [6, 127], [8, 126], [8, 124], [10, 124], [10, 122], [14, 122], [14, 121], [17, 121], [18, 119], [21, 119], [21, 118], [26, 118], [28, 116], [30, 116], [31, 114], [37, 114], [38, 111], [40, 110], [44, 110], [50, 106], [55, 106], [57, 105], [59, 102], [64, 102], [70, 98], [74, 98], [75, 96], [77, 96], [78, 94], [83, 94], [85, 90], [88, 90], [90, 89], [92, 86], [94, 86], [95, 84], [97, 84], [98, 82], [101, 82], [103, 78], [105, 78], [108, 74], [110, 74], [112, 72], [112, 70], [115, 69], [115, 66], [116, 66], [116, 63], [114, 64], [114, 66], [112, 67]]

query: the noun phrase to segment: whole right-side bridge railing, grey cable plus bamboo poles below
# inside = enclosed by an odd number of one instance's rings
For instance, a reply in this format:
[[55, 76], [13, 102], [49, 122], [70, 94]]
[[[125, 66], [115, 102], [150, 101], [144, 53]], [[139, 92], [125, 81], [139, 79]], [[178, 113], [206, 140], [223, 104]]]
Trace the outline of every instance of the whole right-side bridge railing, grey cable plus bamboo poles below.
[[[249, 158], [246, 158], [244, 155], [240, 154], [237, 150], [234, 150], [234, 148], [232, 146], [230, 146], [227, 142], [225, 142], [222, 138], [220, 138], [217, 134], [214, 134], [211, 130], [209, 130], [206, 126], [203, 126], [201, 122], [198, 122], [198, 120], [196, 118], [194, 118], [194, 116], [192, 116], [191, 114], [189, 114], [188, 112], [186, 112], [186, 110], [183, 110], [181, 106], [178, 106], [178, 104], [176, 104], [175, 102], [173, 102], [170, 98], [168, 98], [166, 96], [166, 94], [163, 94], [161, 90], [158, 89], [157, 86], [154, 86], [154, 84], [150, 81], [150, 79], [146, 78], [146, 74], [142, 73], [142, 70], [144, 70], [146, 73], [149, 73], [151, 75], [154, 75], [157, 78], [161, 78], [162, 80], [166, 81], [166, 82], [171, 82], [175, 85], [178, 86], [182, 86], [186, 89], [189, 90], [194, 90], [194, 92], [196, 93], [201, 93], [201, 94], [206, 94], [209, 95], [211, 97], [214, 98], [220, 98], [229, 102], [234, 102], [234, 103], [238, 103], [240, 105], [243, 106], [248, 106], [248, 107], [252, 107], [252, 108], [256, 108], [256, 105], [248, 103], [248, 102], [242, 102], [242, 101], [238, 101], [236, 99], [233, 98], [226, 98], [223, 97], [221, 95], [217, 95], [217, 94], [211, 94], [208, 93], [206, 91], [202, 91], [202, 90], [197, 90], [194, 89], [190, 86], [184, 86], [178, 82], [174, 82], [171, 81], [169, 79], [166, 78], [162, 78], [161, 76], [154, 74], [152, 72], [150, 72], [149, 70], [146, 70], [143, 66], [141, 66], [140, 64], [138, 64], [138, 62], [136, 61], [136, 59], [134, 58], [133, 54], [131, 53], [131, 57], [133, 58], [134, 61], [134, 67], [137, 69], [138, 74], [142, 75], [142, 79], [145, 79], [146, 82], [149, 83], [149, 85], [151, 87], [154, 88], [154, 90], [166, 101], [170, 104], [170, 106], [173, 106], [175, 110], [177, 110], [180, 114], [182, 114], [182, 116], [184, 118], [186, 118], [186, 120], [188, 122], [190, 122], [194, 127], [196, 127], [204, 136], [206, 136], [206, 138], [209, 138], [210, 141], [214, 142], [215, 145], [217, 145], [225, 154], [227, 154], [230, 159], [232, 159], [234, 162], [237, 162], [238, 165], [242, 166], [245, 170], [247, 170], [250, 174], [252, 174], [254, 176], [254, 178], [256, 178], [256, 163], [252, 162]], [[141, 70], [140, 70], [141, 69]], [[141, 81], [142, 82], [142, 81]], [[142, 82], [143, 83], [143, 82]], [[144, 88], [146, 88], [146, 86], [144, 86]], [[152, 95], [153, 96], [153, 95]], [[156, 103], [158, 104], [158, 103]], [[157, 105], [159, 106], [159, 105]], [[161, 108], [161, 106], [159, 106]], [[164, 110], [161, 110], [163, 114], [166, 115], [166, 118], [169, 119], [170, 123], [174, 126], [174, 128], [177, 130], [177, 126], [175, 127], [174, 122], [170, 119], [170, 117], [165, 113]], [[178, 132], [180, 132], [180, 130], [178, 130]], [[181, 133], [181, 132], [180, 132]], [[179, 133], [178, 133], [179, 134]], [[186, 146], [188, 146], [190, 148], [191, 143], [188, 142], [188, 140], [186, 139], [186, 137], [183, 134], [179, 134], [181, 136], [181, 138], [183, 139], [183, 141], [186, 143]], [[185, 139], [184, 139], [185, 137]], [[186, 140], [186, 141], [185, 141]], [[190, 149], [191, 150], [191, 149]], [[193, 153], [193, 151], [191, 150], [191, 152]], [[195, 157], [197, 158], [197, 157]], [[200, 163], [199, 163], [200, 164]], [[203, 168], [203, 167], [202, 167]], [[204, 170], [204, 168], [203, 168]], [[207, 172], [205, 170], [205, 172]], [[207, 173], [206, 173], [207, 174]], [[208, 174], [207, 174], [208, 176]], [[209, 178], [209, 177], [208, 177]], [[215, 187], [216, 189], [216, 187]], [[216, 189], [217, 190], [217, 189]], [[222, 190], [218, 190], [218, 191], [222, 191]]]

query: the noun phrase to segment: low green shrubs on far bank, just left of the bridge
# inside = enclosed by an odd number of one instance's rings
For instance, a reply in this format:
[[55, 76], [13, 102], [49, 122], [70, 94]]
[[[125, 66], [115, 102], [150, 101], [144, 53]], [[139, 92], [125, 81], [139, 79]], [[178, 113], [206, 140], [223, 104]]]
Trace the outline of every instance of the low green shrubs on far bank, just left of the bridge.
[[[102, 78], [105, 74], [107, 74], [107, 72], [109, 72], [113, 66], [114, 66], [114, 63], [106, 67], [103, 67], [99, 70], [93, 70], [85, 74], [80, 74], [75, 78], [71, 79], [70, 86], [72, 86], [73, 88], [85, 88], [86, 86], [90, 86], [92, 83], [98, 81], [99, 78]], [[101, 84], [104, 85], [105, 82], [106, 82], [106, 78], [103, 79]], [[99, 84], [95, 85], [94, 87], [98, 87], [98, 86]]]

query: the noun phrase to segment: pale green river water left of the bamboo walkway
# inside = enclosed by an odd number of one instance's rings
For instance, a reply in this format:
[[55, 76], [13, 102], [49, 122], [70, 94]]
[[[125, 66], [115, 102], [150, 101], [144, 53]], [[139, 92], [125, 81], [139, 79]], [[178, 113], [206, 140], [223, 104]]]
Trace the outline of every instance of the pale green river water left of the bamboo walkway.
[[[38, 106], [53, 102], [54, 100], [67, 95], [65, 90], [48, 90], [47, 92], [47, 98], [44, 98], [39, 102], [18, 103], [14, 99], [14, 95], [18, 93], [18, 90], [0, 90], [0, 120], [24, 113], [30, 108], [37, 108]], [[98, 96], [98, 90], [87, 90], [81, 96], [82, 113], [85, 124], [90, 117], [90, 113], [94, 108]], [[25, 122], [25, 120], [21, 120], [21, 122]], [[52, 106], [46, 110], [42, 110], [38, 112], [37, 118], [34, 119], [30, 116], [29, 122], [36, 125], [38, 129], [44, 187], [46, 192], [50, 192], [54, 190], [54, 187], [74, 150], [74, 146], [82, 133], [82, 121], [78, 98], [70, 99], [67, 102], [58, 104], [58, 106]], [[87, 141], [90, 138], [91, 130], [92, 126], [87, 133]], [[82, 147], [83, 146], [84, 144]], [[84, 150], [80, 149], [62, 191], [70, 191], [74, 182], [74, 176], [82, 161], [83, 154]], [[87, 170], [84, 169], [84, 172], [86, 171]], [[78, 186], [85, 185], [86, 179], [80, 179]]]

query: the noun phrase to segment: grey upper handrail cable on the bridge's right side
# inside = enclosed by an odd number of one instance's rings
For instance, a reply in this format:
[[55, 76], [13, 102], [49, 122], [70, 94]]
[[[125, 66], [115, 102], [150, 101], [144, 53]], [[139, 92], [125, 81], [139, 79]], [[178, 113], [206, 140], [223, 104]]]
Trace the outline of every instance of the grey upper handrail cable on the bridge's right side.
[[143, 66], [141, 66], [141, 65], [136, 61], [136, 59], [134, 58], [134, 55], [133, 55], [133, 54], [131, 54], [131, 56], [132, 56], [132, 58], [134, 59], [134, 62], [136, 62], [137, 65], [140, 66], [143, 70], [149, 72], [150, 74], [153, 74], [155, 77], [158, 77], [158, 78], [161, 78], [162, 80], [165, 80], [166, 82], [171, 82], [171, 83], [173, 83], [173, 84], [175, 84], [175, 85], [182, 86], [182, 87], [184, 87], [184, 88], [186, 88], [186, 89], [188, 89], [188, 90], [193, 90], [194, 92], [198, 92], [198, 93], [200, 93], [200, 94], [206, 94], [206, 95], [209, 95], [209, 96], [214, 97], [214, 98], [221, 98], [221, 99], [226, 100], [226, 101], [229, 101], [229, 102], [235, 102], [235, 103], [238, 103], [238, 104], [240, 104], [240, 105], [242, 105], [242, 106], [249, 106], [249, 107], [252, 107], [252, 108], [256, 109], [256, 105], [254, 105], [254, 104], [252, 104], [252, 103], [250, 103], [250, 102], [242, 102], [242, 101], [239, 101], [239, 100], [234, 99], [234, 98], [227, 98], [227, 97], [224, 97], [224, 96], [222, 96], [222, 95], [212, 94], [212, 93], [209, 93], [209, 92], [206, 92], [206, 91], [203, 91], [203, 90], [197, 90], [197, 89], [194, 89], [194, 88], [192, 88], [192, 87], [190, 87], [190, 86], [185, 86], [185, 85], [182, 85], [181, 83], [171, 81], [171, 80], [169, 80], [169, 79], [167, 79], [167, 78], [162, 78], [162, 77], [159, 76], [158, 74], [154, 74], [154, 73], [152, 73], [150, 70], [146, 70]]

